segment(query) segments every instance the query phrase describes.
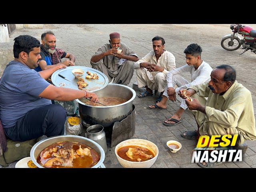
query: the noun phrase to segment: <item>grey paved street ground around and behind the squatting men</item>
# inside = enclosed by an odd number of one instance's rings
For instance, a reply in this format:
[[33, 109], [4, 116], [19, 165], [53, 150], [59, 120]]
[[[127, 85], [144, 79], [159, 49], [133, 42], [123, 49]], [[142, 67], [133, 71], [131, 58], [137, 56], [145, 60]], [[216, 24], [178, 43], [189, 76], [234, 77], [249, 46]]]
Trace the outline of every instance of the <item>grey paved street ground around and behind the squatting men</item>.
[[[256, 29], [255, 24], [249, 24]], [[242, 83], [252, 92], [254, 114], [256, 114], [256, 54], [247, 51], [241, 56], [243, 50], [226, 51], [221, 45], [221, 39], [226, 34], [231, 34], [230, 24], [45, 24], [43, 29], [19, 29], [10, 36], [10, 42], [16, 36], [29, 34], [38, 38], [41, 42], [41, 34], [52, 30], [56, 36], [58, 48], [76, 55], [76, 66], [90, 65], [91, 56], [100, 46], [108, 43], [111, 32], [119, 32], [121, 42], [132, 48], [140, 58], [152, 50], [152, 38], [156, 35], [165, 39], [165, 49], [174, 54], [176, 68], [186, 64], [184, 49], [191, 43], [202, 46], [202, 59], [216, 68], [221, 64], [229, 64], [237, 70], [237, 81]], [[12, 50], [12, 47], [10, 47]], [[184, 78], [190, 79], [190, 74], [184, 74]], [[136, 84], [136, 74], [130, 82], [130, 87]], [[135, 89], [136, 95], [143, 89]], [[159, 93], [158, 93], [159, 94]], [[136, 110], [136, 131], [132, 138], [142, 138], [154, 142], [159, 149], [159, 156], [152, 168], [201, 168], [197, 164], [191, 164], [192, 149], [197, 140], [182, 138], [180, 133], [186, 130], [197, 129], [196, 121], [191, 112], [185, 111], [184, 121], [176, 126], [164, 126], [162, 124], [172, 116], [180, 106], [178, 101], [168, 100], [166, 110], [149, 110], [146, 107], [155, 103], [158, 95], [146, 98], [136, 98], [133, 101]], [[171, 153], [166, 146], [168, 140], [177, 140], [182, 148]], [[225, 162], [216, 168], [256, 168], [256, 141], [246, 141], [249, 148], [244, 154], [242, 162]], [[108, 148], [104, 160], [106, 168], [121, 168], [114, 154], [114, 147]], [[12, 163], [8, 168], [15, 167]]]

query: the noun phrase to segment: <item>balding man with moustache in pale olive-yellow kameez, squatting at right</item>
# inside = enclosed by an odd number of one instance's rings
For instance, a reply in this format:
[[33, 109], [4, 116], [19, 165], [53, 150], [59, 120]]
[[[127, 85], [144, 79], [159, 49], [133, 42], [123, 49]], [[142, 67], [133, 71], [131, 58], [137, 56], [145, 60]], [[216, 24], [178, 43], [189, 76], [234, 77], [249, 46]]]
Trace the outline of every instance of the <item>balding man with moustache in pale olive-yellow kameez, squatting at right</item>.
[[[182, 98], [183, 90], [179, 95]], [[229, 65], [217, 66], [210, 82], [186, 90], [186, 104], [198, 123], [200, 135], [238, 134], [236, 146], [256, 140], [254, 109], [250, 91], [236, 81], [236, 71]], [[208, 97], [208, 100], [204, 97]], [[183, 132], [185, 138], [196, 138], [196, 132]]]

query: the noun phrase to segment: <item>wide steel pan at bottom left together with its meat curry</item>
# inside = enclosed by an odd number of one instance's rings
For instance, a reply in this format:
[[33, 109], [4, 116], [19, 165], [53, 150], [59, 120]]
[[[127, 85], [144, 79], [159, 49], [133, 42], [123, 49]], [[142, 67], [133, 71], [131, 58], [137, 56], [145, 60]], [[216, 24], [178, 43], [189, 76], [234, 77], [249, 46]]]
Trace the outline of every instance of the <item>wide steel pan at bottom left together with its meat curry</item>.
[[99, 168], [105, 152], [91, 139], [61, 135], [37, 142], [30, 150], [30, 158], [38, 168]]

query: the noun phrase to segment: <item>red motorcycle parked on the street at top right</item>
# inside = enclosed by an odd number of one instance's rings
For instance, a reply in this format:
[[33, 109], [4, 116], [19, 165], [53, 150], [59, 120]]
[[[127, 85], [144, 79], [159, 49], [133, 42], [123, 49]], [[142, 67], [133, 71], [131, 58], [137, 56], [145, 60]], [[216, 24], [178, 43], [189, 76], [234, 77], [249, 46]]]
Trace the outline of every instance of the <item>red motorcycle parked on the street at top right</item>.
[[[251, 50], [251, 52], [256, 54], [256, 30], [243, 24], [231, 24], [230, 29], [233, 34], [225, 35], [222, 38], [220, 43], [222, 48], [228, 51], [234, 51], [238, 50], [242, 45], [241, 49], [244, 49], [244, 52]], [[244, 38], [241, 38], [238, 34]], [[239, 56], [244, 52], [239, 54]]]

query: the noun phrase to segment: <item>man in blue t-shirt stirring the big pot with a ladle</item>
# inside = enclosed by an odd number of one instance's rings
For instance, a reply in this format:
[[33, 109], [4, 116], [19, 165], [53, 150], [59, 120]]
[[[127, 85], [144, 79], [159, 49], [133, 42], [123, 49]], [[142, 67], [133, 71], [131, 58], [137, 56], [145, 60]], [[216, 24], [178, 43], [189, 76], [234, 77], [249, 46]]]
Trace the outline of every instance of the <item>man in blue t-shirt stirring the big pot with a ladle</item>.
[[29, 35], [14, 38], [14, 60], [6, 66], [0, 80], [0, 119], [4, 133], [13, 141], [40, 136], [63, 135], [66, 110], [51, 100], [71, 101], [86, 97], [97, 102], [93, 92], [54, 86], [46, 81], [63, 64], [36, 72], [40, 42]]

